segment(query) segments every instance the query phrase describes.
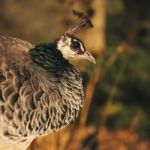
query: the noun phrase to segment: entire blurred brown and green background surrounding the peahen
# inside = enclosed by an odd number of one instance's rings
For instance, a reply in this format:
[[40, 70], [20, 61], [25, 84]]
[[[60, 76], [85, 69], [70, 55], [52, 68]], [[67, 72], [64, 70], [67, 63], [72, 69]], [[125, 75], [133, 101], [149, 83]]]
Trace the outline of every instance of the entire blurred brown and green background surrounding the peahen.
[[1, 0], [0, 35], [50, 42], [86, 13], [93, 29], [77, 36], [97, 64], [77, 65], [84, 107], [65, 129], [33, 141], [29, 150], [150, 149], [149, 0]]

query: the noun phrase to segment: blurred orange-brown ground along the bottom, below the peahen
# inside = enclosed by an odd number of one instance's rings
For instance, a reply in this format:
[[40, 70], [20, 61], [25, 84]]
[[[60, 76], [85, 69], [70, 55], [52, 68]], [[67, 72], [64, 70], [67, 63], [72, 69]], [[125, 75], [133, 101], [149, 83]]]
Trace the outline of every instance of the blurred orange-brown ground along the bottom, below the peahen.
[[[70, 134], [71, 133], [71, 134]], [[92, 127], [66, 128], [35, 140], [30, 150], [150, 150], [144, 140], [129, 130], [109, 131]]]

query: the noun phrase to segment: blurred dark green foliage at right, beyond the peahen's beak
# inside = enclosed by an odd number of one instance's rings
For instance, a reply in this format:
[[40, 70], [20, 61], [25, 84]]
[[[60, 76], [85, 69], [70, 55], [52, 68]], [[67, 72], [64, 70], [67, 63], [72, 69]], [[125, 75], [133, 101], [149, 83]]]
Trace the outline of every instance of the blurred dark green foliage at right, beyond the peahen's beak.
[[[101, 119], [105, 117], [105, 124], [111, 129], [131, 128], [138, 130], [142, 136], [149, 136], [150, 22], [147, 17], [138, 18], [139, 12], [136, 10], [132, 10], [135, 16], [129, 16], [124, 3], [110, 2], [108, 6], [112, 9], [108, 10], [107, 51], [102, 67], [105, 68], [121, 43], [126, 43], [133, 50], [126, 47], [98, 83], [91, 109], [93, 115], [90, 114], [90, 117], [100, 123], [101, 120], [92, 118], [99, 114]], [[145, 7], [142, 2], [141, 6]], [[139, 24], [135, 27], [135, 33], [131, 33], [136, 15], [138, 19], [135, 22]]]

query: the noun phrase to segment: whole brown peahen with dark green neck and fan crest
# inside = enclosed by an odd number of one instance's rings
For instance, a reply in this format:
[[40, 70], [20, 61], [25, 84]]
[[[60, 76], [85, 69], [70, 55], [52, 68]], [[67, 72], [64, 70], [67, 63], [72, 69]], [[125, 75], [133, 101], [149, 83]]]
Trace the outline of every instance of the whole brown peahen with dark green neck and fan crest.
[[83, 107], [82, 77], [71, 61], [95, 63], [75, 36], [92, 22], [82, 12], [73, 14], [75, 23], [49, 43], [0, 36], [0, 149], [5, 143], [6, 150], [26, 149], [73, 122]]

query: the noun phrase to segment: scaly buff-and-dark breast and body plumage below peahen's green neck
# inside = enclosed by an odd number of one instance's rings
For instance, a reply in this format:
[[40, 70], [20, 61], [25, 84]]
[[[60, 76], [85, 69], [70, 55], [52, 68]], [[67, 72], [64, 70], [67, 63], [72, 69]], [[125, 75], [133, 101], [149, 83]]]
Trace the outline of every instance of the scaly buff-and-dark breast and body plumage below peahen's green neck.
[[6, 64], [1, 67], [0, 137], [9, 142], [63, 128], [77, 117], [82, 105], [82, 79], [74, 66], [66, 68], [59, 79], [25, 69], [21, 73]]

